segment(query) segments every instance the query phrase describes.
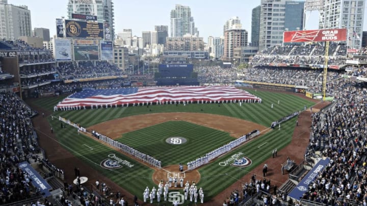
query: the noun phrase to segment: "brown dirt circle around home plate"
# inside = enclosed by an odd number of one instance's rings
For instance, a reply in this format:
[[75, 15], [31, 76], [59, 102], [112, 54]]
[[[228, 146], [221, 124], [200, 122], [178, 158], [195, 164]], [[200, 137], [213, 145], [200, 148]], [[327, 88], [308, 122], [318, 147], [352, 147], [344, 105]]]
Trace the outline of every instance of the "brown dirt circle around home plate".
[[[169, 165], [169, 166], [165, 166], [162, 167], [162, 169], [160, 170], [156, 170], [153, 173], [152, 179], [153, 182], [156, 185], [159, 185], [161, 181], [163, 181], [163, 184], [166, 184], [166, 182], [169, 182], [169, 177], [171, 176], [171, 178], [173, 179], [174, 177], [177, 178], [177, 187], [174, 186], [174, 182], [172, 181], [172, 186], [169, 188], [171, 190], [174, 189], [183, 189], [183, 187], [185, 187], [185, 183], [187, 181], [189, 181], [190, 185], [195, 182], [195, 184], [197, 184], [200, 181], [200, 173], [198, 170], [191, 170], [191, 171], [186, 171], [187, 170], [187, 166], [183, 165], [183, 172], [179, 171], [179, 165], [175, 164], [175, 165]], [[180, 187], [180, 179], [183, 179], [183, 187]]]

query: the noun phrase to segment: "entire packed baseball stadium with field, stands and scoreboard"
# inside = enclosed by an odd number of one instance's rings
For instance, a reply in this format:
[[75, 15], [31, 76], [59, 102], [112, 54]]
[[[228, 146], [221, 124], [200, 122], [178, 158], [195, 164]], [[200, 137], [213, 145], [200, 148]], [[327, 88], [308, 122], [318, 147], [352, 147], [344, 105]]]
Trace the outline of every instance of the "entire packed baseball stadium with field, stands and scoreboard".
[[125, 69], [106, 38], [0, 40], [0, 204], [367, 205], [367, 48], [302, 32]]

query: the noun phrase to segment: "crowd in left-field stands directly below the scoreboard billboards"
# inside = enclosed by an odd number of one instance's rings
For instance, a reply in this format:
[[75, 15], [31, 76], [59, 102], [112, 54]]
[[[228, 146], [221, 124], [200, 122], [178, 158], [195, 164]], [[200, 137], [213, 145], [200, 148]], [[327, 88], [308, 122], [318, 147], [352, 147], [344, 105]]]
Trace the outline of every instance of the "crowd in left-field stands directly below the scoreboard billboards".
[[65, 62], [60, 63], [57, 70], [63, 79], [85, 79], [106, 76], [122, 76], [125, 73], [117, 66], [106, 61]]

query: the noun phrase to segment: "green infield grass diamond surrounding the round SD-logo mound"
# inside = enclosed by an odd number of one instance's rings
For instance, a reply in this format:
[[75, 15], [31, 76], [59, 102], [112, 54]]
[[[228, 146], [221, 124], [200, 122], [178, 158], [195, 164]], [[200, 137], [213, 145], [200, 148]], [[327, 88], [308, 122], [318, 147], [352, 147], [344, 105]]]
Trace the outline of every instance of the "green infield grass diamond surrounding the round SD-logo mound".
[[[169, 144], [169, 137], [184, 137], [183, 144]], [[117, 139], [162, 161], [162, 166], [187, 164], [232, 140], [227, 132], [185, 121], [170, 121], [124, 134]], [[193, 158], [194, 157], [194, 158]]]

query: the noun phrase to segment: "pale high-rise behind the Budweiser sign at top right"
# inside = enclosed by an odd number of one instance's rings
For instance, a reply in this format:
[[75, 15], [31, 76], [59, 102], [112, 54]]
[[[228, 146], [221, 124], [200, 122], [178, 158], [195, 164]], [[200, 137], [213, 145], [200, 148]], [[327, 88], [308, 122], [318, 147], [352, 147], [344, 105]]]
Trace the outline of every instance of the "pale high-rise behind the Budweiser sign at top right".
[[361, 48], [365, 0], [325, 0], [319, 28], [347, 28], [348, 45]]

